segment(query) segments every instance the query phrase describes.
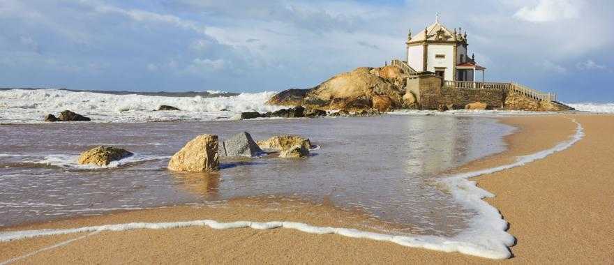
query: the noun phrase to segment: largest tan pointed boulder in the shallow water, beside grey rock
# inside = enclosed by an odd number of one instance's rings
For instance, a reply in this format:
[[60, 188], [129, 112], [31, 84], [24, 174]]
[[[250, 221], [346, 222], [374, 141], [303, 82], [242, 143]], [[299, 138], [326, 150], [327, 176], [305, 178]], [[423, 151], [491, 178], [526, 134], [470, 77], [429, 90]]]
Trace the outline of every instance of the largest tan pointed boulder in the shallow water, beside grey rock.
[[199, 135], [168, 162], [168, 169], [182, 172], [213, 172], [220, 169], [218, 136]]

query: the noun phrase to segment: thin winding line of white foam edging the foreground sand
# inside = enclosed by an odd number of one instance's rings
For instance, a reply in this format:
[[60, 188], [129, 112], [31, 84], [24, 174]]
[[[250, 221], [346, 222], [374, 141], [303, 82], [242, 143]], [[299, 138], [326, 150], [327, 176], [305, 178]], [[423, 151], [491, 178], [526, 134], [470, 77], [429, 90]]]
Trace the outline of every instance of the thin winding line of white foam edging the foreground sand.
[[527, 163], [546, 158], [547, 156], [568, 149], [570, 146], [580, 141], [583, 136], [583, 128], [580, 123], [576, 123], [576, 133], [571, 139], [560, 142], [551, 149], [521, 156], [508, 165], [501, 165], [490, 169], [483, 169], [474, 172], [465, 172], [452, 176], [442, 176], [440, 178], [454, 196], [463, 205], [474, 209], [478, 214], [472, 218], [470, 228], [454, 237], [443, 236], [397, 236], [375, 232], [360, 231], [344, 227], [318, 227], [301, 222], [217, 222], [216, 220], [193, 220], [185, 222], [131, 222], [115, 225], [99, 225], [91, 227], [77, 227], [73, 229], [41, 229], [41, 230], [22, 230], [0, 232], [0, 242], [18, 239], [27, 239], [36, 236], [52, 236], [58, 234], [73, 234], [80, 232], [103, 232], [103, 231], [125, 231], [130, 229], [171, 229], [178, 227], [211, 227], [213, 229], [233, 229], [233, 228], [253, 228], [253, 229], [275, 229], [286, 228], [296, 229], [301, 232], [312, 234], [338, 234], [352, 238], [373, 239], [377, 241], [389, 241], [413, 248], [426, 248], [428, 250], [438, 250], [443, 252], [461, 252], [467, 255], [474, 255], [490, 259], [507, 259], [511, 257], [509, 247], [514, 244], [514, 236], [507, 233], [508, 224], [502, 219], [502, 215], [495, 207], [484, 202], [484, 197], [493, 197], [491, 192], [478, 188], [474, 181], [469, 179], [483, 174], [500, 172], [513, 167], [521, 167]]

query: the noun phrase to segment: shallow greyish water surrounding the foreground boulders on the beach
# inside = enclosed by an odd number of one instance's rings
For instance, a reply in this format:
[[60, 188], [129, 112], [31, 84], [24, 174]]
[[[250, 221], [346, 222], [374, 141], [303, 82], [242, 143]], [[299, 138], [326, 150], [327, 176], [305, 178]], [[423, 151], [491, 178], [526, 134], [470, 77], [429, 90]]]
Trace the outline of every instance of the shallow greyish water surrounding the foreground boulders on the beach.
[[[406, 232], [454, 236], [475, 212], [437, 185], [440, 173], [504, 150], [512, 128], [474, 116], [47, 123], [0, 126], [0, 225], [234, 197], [324, 199]], [[255, 139], [297, 134], [319, 146], [304, 160], [222, 160], [219, 174], [165, 169], [196, 135]], [[77, 165], [81, 151], [135, 153], [107, 167]], [[404, 232], [400, 228], [398, 232]]]

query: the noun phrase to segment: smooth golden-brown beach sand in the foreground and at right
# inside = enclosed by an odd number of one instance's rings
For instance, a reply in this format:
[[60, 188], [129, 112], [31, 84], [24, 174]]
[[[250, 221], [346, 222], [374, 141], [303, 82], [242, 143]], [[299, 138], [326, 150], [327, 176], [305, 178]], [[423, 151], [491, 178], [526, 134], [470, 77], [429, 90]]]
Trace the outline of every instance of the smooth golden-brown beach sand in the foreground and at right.
[[[502, 119], [520, 130], [507, 137], [509, 150], [471, 162], [456, 172], [502, 165], [516, 156], [548, 149], [574, 134], [576, 119], [585, 137], [571, 148], [523, 167], [477, 178], [496, 197], [516, 236], [514, 257], [492, 261], [458, 253], [407, 248], [394, 243], [307, 234], [290, 229], [188, 227], [99, 234], [47, 236], [0, 243], [0, 262], [36, 252], [24, 263], [612, 263], [614, 262], [614, 116], [519, 116]], [[257, 205], [254, 205], [257, 204]], [[262, 210], [264, 209], [264, 210]], [[67, 228], [124, 222], [213, 219], [290, 220], [310, 225], [366, 229], [364, 216], [327, 204], [237, 199], [229, 206], [177, 206], [73, 218], [11, 229]], [[6, 229], [5, 229], [6, 230]]]

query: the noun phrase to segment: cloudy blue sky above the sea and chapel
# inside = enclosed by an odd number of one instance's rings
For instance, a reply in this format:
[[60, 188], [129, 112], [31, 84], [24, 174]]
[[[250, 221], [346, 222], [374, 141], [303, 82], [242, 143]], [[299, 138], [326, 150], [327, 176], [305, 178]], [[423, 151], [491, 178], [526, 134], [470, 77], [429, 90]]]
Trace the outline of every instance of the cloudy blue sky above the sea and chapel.
[[614, 102], [611, 0], [1, 0], [0, 87], [305, 89], [402, 58], [435, 13], [487, 81]]

